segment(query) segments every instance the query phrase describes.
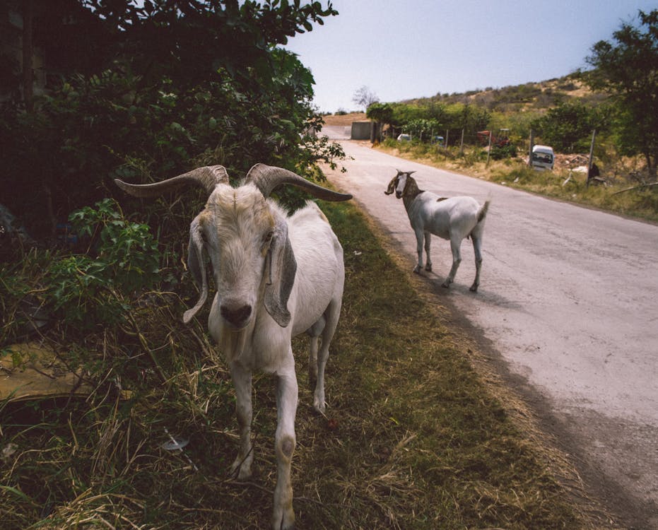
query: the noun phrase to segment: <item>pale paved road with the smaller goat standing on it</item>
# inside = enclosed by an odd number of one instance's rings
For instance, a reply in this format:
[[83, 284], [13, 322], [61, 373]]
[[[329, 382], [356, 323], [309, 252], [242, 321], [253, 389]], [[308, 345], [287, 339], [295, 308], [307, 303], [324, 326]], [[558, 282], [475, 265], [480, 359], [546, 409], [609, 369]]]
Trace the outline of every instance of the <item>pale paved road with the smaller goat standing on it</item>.
[[440, 288], [452, 258], [434, 238], [438, 298], [539, 396], [544, 426], [621, 524], [658, 529], [658, 227], [341, 144], [353, 160], [329, 179], [399, 241], [409, 273], [416, 239], [402, 201], [383, 193], [396, 168], [442, 196], [491, 199], [478, 293], [469, 241], [455, 283]]

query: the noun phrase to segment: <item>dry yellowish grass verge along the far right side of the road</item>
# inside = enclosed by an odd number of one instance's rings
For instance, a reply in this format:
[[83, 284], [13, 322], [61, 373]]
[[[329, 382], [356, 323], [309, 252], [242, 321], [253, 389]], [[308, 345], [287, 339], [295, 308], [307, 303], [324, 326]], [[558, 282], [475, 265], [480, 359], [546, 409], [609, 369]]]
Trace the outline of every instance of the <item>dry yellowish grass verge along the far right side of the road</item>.
[[607, 185], [587, 186], [587, 175], [584, 173], [570, 172], [568, 169], [539, 172], [527, 167], [521, 158], [490, 160], [487, 164], [486, 151], [481, 148], [466, 148], [464, 155], [459, 155], [457, 148], [446, 151], [436, 146], [411, 142], [385, 141], [377, 148], [400, 158], [469, 177], [658, 223], [658, 187], [624, 191], [638, 185], [638, 182], [628, 182], [609, 175]]

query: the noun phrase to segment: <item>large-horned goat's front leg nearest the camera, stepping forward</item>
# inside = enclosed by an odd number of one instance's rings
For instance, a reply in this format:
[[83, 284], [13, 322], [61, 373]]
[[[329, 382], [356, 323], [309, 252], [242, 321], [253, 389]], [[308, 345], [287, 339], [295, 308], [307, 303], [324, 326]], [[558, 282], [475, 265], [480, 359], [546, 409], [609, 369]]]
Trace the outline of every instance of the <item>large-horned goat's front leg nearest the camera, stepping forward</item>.
[[[290, 359], [293, 352], [290, 350]], [[298, 387], [295, 367], [280, 370], [276, 374], [276, 413], [277, 424], [274, 435], [276, 452], [276, 487], [274, 488], [274, 513], [272, 528], [292, 529], [295, 524], [293, 511], [293, 484], [290, 481], [290, 467], [295, 451], [295, 416], [297, 414]]]

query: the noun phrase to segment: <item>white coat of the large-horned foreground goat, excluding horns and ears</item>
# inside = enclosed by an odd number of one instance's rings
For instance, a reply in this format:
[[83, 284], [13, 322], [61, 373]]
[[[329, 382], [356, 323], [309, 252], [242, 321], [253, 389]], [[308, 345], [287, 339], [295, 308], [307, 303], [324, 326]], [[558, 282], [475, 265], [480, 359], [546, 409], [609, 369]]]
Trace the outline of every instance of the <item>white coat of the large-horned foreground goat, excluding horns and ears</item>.
[[[249, 208], [240, 211], [240, 206], [245, 204]], [[324, 367], [343, 296], [343, 249], [327, 218], [312, 202], [288, 217], [274, 201], [266, 201], [256, 187], [247, 185], [233, 189], [218, 185], [208, 199], [206, 211], [210, 215], [204, 216], [201, 226], [218, 286], [208, 329], [230, 365], [237, 398], [240, 450], [232, 470], [240, 479], [252, 473], [252, 372], [270, 373], [277, 379], [278, 411], [275, 435], [278, 471], [272, 522], [277, 529], [288, 529], [293, 526], [295, 517], [290, 461], [295, 448], [298, 404], [290, 339], [305, 331], [311, 335], [309, 372], [312, 379], [317, 379], [313, 405], [324, 413]], [[222, 217], [221, 223], [218, 216]], [[290, 324], [285, 327], [267, 312], [262, 301], [265, 285], [270, 281], [262, 233], [281, 221], [287, 225], [290, 247], [297, 262], [288, 298]], [[226, 300], [254, 308], [240, 329], [221, 314]], [[320, 334], [322, 345], [318, 348]]]

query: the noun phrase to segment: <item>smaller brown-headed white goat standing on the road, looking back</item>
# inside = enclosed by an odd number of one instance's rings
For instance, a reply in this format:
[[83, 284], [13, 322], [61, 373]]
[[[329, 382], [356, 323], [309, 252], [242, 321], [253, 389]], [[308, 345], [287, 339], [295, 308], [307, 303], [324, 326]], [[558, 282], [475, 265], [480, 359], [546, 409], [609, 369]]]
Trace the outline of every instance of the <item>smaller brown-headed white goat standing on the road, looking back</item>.
[[423, 268], [423, 237], [425, 238], [425, 254], [427, 262], [425, 271], [432, 270], [430, 259], [430, 235], [434, 234], [445, 240], [450, 240], [452, 249], [452, 269], [443, 287], [450, 287], [457, 273], [459, 263], [462, 261], [460, 247], [464, 237], [471, 237], [475, 251], [475, 281], [471, 290], [476, 292], [480, 285], [480, 269], [482, 267], [482, 235], [484, 231], [484, 220], [489, 208], [489, 201], [482, 206], [478, 201], [469, 196], [457, 196], [447, 199], [431, 192], [418, 189], [416, 179], [411, 177], [415, 171], [400, 171], [389, 182], [387, 195], [395, 192], [398, 199], [404, 202], [404, 208], [409, 216], [411, 228], [416, 232], [416, 250], [418, 251], [418, 264], [413, 272], [420, 273]]

